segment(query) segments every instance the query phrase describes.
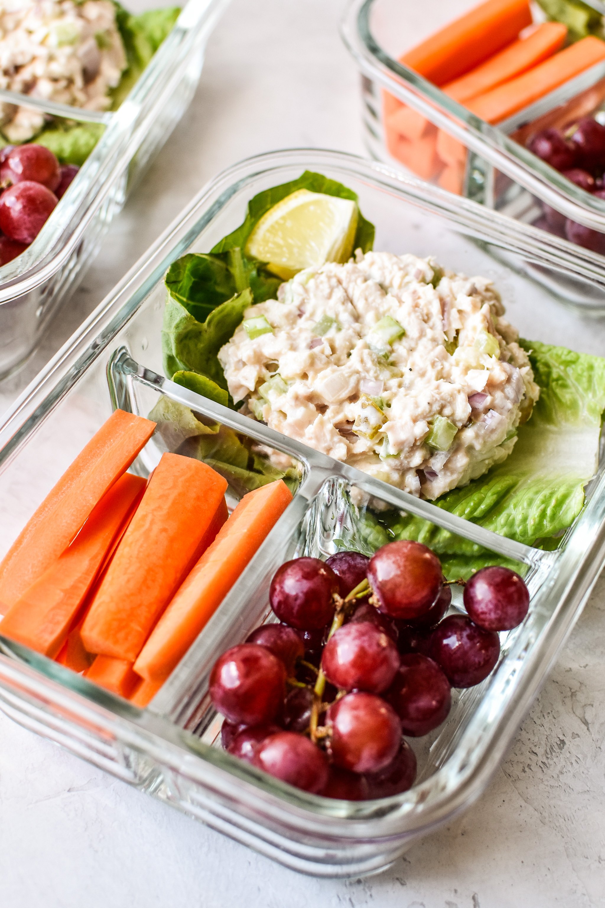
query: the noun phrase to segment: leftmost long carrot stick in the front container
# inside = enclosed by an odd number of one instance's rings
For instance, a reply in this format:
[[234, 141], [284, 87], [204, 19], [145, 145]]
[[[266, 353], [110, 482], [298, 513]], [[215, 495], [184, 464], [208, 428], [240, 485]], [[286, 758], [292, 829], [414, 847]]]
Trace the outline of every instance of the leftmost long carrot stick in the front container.
[[44, 498], [0, 564], [6, 614], [72, 542], [94, 506], [130, 467], [155, 423], [115, 410]]

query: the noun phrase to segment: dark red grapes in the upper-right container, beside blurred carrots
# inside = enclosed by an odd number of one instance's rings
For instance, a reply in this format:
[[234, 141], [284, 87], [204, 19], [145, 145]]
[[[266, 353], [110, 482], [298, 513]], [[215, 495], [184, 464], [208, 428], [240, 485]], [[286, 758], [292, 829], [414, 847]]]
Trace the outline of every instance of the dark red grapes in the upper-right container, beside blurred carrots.
[[[571, 136], [558, 129], [542, 130], [532, 137], [527, 147], [571, 183], [598, 199], [605, 199], [605, 126], [592, 117], [582, 117]], [[539, 223], [542, 229], [605, 255], [605, 233], [571, 221], [545, 202], [542, 202], [542, 208], [544, 218]]]

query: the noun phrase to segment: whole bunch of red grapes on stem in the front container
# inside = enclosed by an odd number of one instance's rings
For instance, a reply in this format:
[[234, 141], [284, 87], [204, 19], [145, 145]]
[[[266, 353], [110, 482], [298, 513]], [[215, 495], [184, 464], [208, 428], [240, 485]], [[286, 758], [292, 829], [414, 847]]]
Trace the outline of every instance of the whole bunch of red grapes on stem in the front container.
[[498, 631], [527, 614], [529, 593], [508, 568], [464, 587], [467, 615], [434, 553], [390, 542], [372, 558], [295, 558], [269, 591], [279, 624], [257, 627], [215, 663], [210, 696], [225, 716], [223, 747], [290, 785], [366, 800], [414, 784], [405, 736], [444, 722], [451, 687], [471, 687], [498, 661]]

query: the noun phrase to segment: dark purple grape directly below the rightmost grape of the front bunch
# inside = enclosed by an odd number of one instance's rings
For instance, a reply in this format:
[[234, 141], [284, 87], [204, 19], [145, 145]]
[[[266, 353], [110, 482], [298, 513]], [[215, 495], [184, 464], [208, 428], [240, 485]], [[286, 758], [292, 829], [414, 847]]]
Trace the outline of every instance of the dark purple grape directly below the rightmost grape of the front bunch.
[[450, 615], [435, 627], [429, 656], [441, 666], [454, 687], [473, 687], [483, 681], [500, 655], [495, 631], [477, 627], [464, 615]]

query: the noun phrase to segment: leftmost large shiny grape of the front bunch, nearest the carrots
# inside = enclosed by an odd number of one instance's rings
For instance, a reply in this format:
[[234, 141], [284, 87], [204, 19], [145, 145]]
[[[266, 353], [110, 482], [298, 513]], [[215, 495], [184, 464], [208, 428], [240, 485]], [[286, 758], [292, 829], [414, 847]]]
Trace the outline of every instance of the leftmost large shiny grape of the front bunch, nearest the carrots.
[[259, 725], [278, 714], [283, 703], [286, 669], [264, 646], [231, 646], [214, 663], [210, 698], [230, 722]]

